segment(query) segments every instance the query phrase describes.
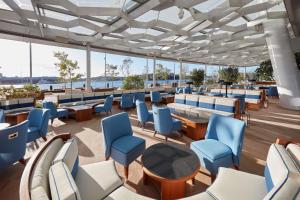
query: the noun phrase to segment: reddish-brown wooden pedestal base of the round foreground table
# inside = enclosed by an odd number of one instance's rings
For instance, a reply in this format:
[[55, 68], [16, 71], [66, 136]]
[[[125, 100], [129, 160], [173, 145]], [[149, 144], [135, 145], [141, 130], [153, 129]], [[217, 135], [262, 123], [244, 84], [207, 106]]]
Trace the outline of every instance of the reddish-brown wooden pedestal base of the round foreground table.
[[172, 200], [180, 199], [185, 196], [185, 181], [179, 182], [161, 182], [161, 199]]

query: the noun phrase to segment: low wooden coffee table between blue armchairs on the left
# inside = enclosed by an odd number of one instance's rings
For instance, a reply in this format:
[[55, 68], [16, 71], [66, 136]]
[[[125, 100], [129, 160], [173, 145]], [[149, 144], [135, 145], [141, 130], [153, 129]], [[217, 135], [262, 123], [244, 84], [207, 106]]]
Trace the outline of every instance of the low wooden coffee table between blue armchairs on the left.
[[71, 113], [71, 116], [72, 113], [74, 113], [75, 119], [78, 122], [92, 119], [93, 108], [91, 106], [78, 105], [78, 106], [67, 106], [63, 108], [68, 109]]

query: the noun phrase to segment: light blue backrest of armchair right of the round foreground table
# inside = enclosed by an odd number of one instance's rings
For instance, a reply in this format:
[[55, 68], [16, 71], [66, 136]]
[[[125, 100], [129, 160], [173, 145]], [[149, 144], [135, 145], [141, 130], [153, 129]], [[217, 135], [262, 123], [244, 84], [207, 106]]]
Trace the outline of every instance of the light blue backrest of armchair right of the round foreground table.
[[238, 165], [244, 140], [245, 122], [213, 114], [208, 123], [205, 139], [214, 139], [231, 148], [234, 155], [233, 162]]

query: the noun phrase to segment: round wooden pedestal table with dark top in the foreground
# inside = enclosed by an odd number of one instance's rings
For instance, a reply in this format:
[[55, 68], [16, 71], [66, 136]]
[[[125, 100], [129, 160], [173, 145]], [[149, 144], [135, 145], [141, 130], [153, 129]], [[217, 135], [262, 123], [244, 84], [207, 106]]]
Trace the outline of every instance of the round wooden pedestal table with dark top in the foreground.
[[161, 184], [161, 199], [179, 199], [185, 196], [186, 181], [193, 179], [200, 168], [198, 156], [185, 145], [159, 143], [142, 155], [143, 182], [148, 178]]

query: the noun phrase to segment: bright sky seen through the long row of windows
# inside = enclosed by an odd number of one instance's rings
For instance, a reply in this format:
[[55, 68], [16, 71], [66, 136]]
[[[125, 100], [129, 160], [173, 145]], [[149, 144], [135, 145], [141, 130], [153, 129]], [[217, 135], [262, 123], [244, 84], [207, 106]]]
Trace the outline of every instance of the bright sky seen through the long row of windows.
[[[86, 51], [32, 43], [33, 77], [58, 76], [58, 70], [55, 67], [57, 59], [53, 56], [54, 52], [57, 51], [64, 51], [69, 55], [70, 59], [77, 60], [80, 67], [78, 72], [84, 76], [86, 75]], [[3, 76], [29, 76], [29, 43], [0, 39], [0, 52], [0, 73], [2, 73]], [[92, 77], [104, 75], [104, 58], [104, 53], [91, 52]], [[128, 56], [106, 54], [107, 64], [120, 66], [125, 58], [128, 58]], [[133, 60], [130, 67], [130, 74], [143, 74], [144, 67], [147, 65], [147, 59], [138, 57], [130, 58]], [[171, 72], [174, 71], [175, 64], [175, 73], [179, 73], [178, 62], [157, 60], [156, 63], [160, 63], [164, 67], [169, 68]], [[187, 67], [188, 71], [192, 71], [194, 68], [205, 68], [202, 64], [184, 63], [184, 65]], [[148, 66], [149, 73], [152, 73], [153, 59], [148, 59]], [[255, 68], [256, 67], [247, 68], [247, 72], [252, 72]], [[208, 66], [207, 74], [211, 75], [212, 73], [217, 72], [217, 70], [218, 66]], [[240, 71], [244, 72], [244, 68], [241, 68]], [[120, 76], [121, 75], [123, 74], [120, 72]]]

